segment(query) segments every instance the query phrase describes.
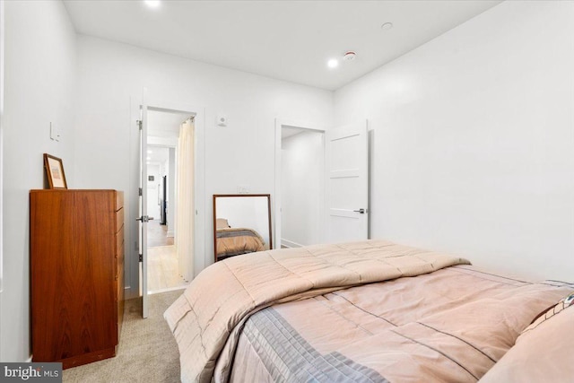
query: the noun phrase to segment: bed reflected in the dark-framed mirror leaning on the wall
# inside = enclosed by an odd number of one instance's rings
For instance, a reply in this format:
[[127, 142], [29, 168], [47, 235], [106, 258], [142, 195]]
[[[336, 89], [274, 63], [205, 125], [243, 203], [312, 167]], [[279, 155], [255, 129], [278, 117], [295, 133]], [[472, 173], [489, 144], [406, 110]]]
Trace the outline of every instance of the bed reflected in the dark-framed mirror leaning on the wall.
[[215, 231], [216, 260], [265, 250], [265, 241], [250, 228], [232, 228], [227, 219], [218, 218]]

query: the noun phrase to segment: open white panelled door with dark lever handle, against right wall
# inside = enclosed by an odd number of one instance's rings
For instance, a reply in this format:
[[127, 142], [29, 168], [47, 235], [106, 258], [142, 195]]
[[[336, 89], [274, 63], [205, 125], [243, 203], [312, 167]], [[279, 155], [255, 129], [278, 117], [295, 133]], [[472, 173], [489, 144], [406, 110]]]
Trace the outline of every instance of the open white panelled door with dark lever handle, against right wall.
[[326, 241], [369, 237], [367, 122], [326, 133]]

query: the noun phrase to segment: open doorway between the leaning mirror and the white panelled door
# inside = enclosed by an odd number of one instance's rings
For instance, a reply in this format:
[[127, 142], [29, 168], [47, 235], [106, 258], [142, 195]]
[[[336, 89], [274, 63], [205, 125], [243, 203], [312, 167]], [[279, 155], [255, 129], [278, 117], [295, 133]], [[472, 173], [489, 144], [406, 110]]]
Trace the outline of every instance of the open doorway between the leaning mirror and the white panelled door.
[[325, 131], [277, 121], [276, 136], [277, 247], [321, 243], [325, 226]]

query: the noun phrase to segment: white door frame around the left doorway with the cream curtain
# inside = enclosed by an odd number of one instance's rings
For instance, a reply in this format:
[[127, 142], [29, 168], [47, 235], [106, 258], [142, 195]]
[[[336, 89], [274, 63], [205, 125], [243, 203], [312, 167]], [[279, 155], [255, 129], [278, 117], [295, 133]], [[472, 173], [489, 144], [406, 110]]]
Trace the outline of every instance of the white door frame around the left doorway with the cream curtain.
[[[144, 91], [145, 92], [145, 91]], [[147, 92], [146, 94], [149, 94]], [[129, 224], [130, 239], [126, 241], [127, 249], [131, 257], [129, 258], [129, 267], [126, 267], [126, 280], [129, 280], [130, 285], [126, 287], [129, 289], [130, 298], [139, 296], [140, 286], [140, 263], [139, 263], [139, 248], [137, 245], [138, 229], [135, 224], [135, 219], [138, 215], [139, 204], [139, 130], [136, 125], [136, 120], [139, 119], [139, 109], [143, 106], [142, 96], [131, 97], [131, 118], [130, 118], [130, 190], [129, 196], [129, 213], [127, 214], [127, 222]], [[193, 266], [194, 276], [208, 265], [207, 262], [211, 258], [205, 257], [205, 212], [207, 205], [205, 205], [205, 109], [191, 103], [175, 102], [169, 100], [153, 99], [146, 97], [145, 105], [148, 110], [160, 110], [166, 112], [176, 111], [178, 113], [186, 113], [195, 118], [195, 179], [194, 179], [194, 203], [196, 209], [195, 227], [194, 227], [194, 257], [189, 259], [190, 265]], [[177, 235], [177, 233], [176, 233]], [[201, 255], [204, 255], [203, 257]], [[127, 293], [127, 291], [126, 291]]]

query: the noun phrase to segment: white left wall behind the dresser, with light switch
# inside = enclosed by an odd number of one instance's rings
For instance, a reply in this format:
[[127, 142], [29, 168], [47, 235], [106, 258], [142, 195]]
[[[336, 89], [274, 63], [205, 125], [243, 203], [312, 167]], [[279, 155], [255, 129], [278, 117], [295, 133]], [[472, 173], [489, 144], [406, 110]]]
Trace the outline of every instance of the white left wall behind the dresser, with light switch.
[[[60, 2], [4, 3], [4, 212], [0, 361], [30, 357], [29, 190], [44, 187], [42, 153], [74, 179], [75, 33]], [[61, 130], [51, 141], [49, 124]]]

